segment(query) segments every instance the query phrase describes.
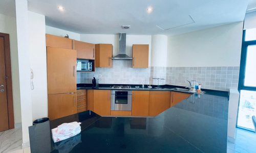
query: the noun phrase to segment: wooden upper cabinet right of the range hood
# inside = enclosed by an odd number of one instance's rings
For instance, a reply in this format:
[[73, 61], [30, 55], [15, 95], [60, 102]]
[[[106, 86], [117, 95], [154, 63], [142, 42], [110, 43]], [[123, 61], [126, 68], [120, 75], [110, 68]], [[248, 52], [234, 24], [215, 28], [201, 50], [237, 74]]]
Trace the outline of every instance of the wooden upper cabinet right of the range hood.
[[133, 45], [133, 68], [148, 68], [148, 44]]

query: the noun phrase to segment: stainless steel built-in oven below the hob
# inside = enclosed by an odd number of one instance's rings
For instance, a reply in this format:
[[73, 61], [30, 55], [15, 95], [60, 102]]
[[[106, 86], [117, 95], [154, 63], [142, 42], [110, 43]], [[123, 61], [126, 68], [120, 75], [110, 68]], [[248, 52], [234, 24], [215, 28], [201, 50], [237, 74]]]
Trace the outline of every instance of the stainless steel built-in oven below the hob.
[[132, 111], [132, 90], [111, 90], [112, 111]]

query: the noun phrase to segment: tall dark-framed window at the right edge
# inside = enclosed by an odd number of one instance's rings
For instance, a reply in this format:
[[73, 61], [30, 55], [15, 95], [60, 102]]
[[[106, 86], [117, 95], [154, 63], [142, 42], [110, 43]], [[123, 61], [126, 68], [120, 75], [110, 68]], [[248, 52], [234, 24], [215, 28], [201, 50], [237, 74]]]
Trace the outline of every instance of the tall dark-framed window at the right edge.
[[237, 126], [254, 131], [252, 116], [256, 116], [256, 29], [243, 31], [239, 90]]

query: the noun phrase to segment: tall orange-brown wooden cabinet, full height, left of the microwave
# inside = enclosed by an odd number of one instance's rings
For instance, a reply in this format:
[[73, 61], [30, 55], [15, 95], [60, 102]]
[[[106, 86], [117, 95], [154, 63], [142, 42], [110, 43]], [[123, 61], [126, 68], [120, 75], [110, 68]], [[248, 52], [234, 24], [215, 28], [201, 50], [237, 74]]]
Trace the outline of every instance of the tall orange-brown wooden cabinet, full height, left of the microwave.
[[46, 34], [48, 116], [56, 119], [77, 112], [76, 50], [73, 40]]

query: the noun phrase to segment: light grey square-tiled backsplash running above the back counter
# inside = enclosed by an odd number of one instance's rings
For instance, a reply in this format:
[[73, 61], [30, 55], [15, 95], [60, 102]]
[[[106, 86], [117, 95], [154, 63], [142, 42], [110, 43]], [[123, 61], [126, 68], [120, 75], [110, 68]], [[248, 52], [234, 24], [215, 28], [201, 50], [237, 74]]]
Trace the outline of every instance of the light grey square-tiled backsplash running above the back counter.
[[[95, 72], [77, 72], [77, 83], [92, 83], [101, 74], [100, 84], [149, 84], [149, 78], [162, 78], [160, 85], [188, 86], [185, 80], [196, 80], [202, 88], [225, 90], [238, 88], [239, 66], [223, 67], [150, 67], [132, 68], [131, 61], [113, 61], [112, 68], [96, 68]], [[151, 80], [157, 85], [157, 80]]]

